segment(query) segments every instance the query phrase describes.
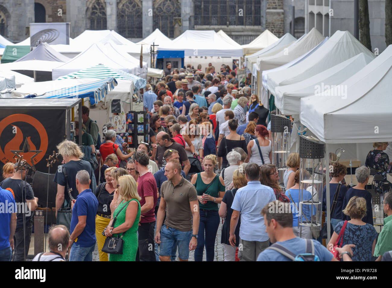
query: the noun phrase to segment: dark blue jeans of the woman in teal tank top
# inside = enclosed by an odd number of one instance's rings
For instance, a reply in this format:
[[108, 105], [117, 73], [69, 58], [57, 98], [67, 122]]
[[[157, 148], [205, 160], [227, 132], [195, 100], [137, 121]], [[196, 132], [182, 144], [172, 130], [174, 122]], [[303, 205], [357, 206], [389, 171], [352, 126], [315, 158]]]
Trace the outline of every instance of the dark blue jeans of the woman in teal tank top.
[[204, 245], [207, 261], [214, 261], [214, 246], [219, 221], [220, 217], [218, 211], [200, 209], [200, 222], [197, 247], [195, 250], [195, 261], [203, 260]]

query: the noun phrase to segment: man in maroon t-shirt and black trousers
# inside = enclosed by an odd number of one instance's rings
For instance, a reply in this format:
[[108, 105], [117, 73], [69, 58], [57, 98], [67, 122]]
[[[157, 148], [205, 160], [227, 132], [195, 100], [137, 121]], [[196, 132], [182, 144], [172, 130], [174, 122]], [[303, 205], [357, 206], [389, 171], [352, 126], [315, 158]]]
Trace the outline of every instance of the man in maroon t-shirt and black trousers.
[[155, 206], [158, 199], [158, 188], [152, 173], [148, 169], [149, 157], [144, 151], [136, 151], [132, 156], [136, 171], [142, 219], [139, 223], [139, 259], [140, 261], [156, 261], [154, 252]]

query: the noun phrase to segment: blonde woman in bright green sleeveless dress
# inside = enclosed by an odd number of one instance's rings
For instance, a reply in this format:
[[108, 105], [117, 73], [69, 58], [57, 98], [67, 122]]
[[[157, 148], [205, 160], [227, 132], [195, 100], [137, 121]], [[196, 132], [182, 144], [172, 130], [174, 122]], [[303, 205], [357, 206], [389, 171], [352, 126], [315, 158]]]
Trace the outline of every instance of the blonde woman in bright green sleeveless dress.
[[[124, 240], [123, 254], [110, 254], [109, 261], [135, 261], [136, 252], [138, 251], [136, 232], [140, 221], [139, 201], [141, 198], [137, 191], [136, 181], [131, 175], [118, 178], [117, 188], [122, 201], [113, 213], [114, 217], [118, 214], [116, 221], [114, 221], [114, 227], [112, 227], [113, 221], [111, 221], [107, 226], [105, 236], [112, 236], [112, 234], [117, 236], [121, 233]], [[124, 209], [122, 209], [123, 207]]]

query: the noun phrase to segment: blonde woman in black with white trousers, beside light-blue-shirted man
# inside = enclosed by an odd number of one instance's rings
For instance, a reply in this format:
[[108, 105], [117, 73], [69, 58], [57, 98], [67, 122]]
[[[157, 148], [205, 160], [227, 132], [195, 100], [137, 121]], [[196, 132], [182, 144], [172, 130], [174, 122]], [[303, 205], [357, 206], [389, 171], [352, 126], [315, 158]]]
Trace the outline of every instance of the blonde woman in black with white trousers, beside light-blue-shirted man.
[[[226, 218], [225, 222], [222, 225], [222, 234], [221, 234], [221, 243], [223, 244], [223, 252], [225, 253], [225, 261], [235, 261], [236, 258], [236, 248], [232, 247], [229, 243], [230, 238], [230, 220], [231, 215], [233, 213], [233, 209], [231, 209], [231, 204], [233, 203], [234, 196], [237, 193], [237, 190], [241, 187], [244, 187], [248, 184], [248, 181], [245, 176], [245, 170], [236, 169], [233, 172], [233, 185], [234, 189], [226, 191], [225, 195], [222, 198], [222, 202], [219, 208], [219, 216], [222, 218]], [[234, 234], [236, 235], [236, 239], [240, 239], [240, 225], [241, 220], [238, 220], [238, 224], [236, 227], [236, 231]], [[238, 243], [240, 241], [236, 241], [236, 247], [238, 247]]]

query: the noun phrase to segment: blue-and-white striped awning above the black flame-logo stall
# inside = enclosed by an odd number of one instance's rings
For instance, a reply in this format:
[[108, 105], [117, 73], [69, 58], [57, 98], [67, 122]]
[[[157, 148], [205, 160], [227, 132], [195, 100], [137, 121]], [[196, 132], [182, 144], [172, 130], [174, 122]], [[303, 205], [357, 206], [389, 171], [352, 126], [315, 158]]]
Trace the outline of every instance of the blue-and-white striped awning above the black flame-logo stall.
[[[62, 88], [36, 98], [90, 98], [91, 105], [103, 100], [109, 90], [113, 90], [117, 86], [114, 77], [101, 79], [87, 84], [76, 85], [72, 87]], [[35, 97], [35, 95], [27, 95], [25, 98]]]

